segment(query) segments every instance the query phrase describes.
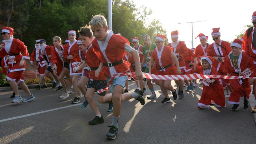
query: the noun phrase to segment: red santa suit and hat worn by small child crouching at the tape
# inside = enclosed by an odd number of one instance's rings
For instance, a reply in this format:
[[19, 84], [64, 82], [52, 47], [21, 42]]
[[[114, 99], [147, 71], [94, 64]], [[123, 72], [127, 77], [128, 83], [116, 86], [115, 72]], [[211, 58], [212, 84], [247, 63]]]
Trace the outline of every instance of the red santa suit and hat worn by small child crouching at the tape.
[[[211, 60], [209, 57], [202, 57], [202, 59], [206, 59], [210, 64], [212, 64], [213, 60]], [[202, 66], [197, 66], [197, 69], [195, 72], [197, 74], [203, 74], [203, 75], [218, 74], [217, 70], [212, 65], [209, 73], [207, 72], [207, 70], [203, 70]], [[213, 100], [218, 107], [226, 107], [223, 87], [220, 84], [220, 81], [218, 78], [214, 78], [214, 80], [215, 82], [213, 84], [209, 83], [211, 79], [201, 80], [203, 83], [203, 91], [197, 105], [200, 105], [203, 107], [209, 107], [211, 100]]]

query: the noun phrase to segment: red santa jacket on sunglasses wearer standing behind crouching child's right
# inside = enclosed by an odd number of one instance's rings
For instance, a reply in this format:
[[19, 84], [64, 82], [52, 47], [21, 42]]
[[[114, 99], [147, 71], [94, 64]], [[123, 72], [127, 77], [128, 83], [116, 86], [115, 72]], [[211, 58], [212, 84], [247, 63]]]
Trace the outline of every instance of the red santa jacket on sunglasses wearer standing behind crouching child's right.
[[[226, 57], [226, 55], [228, 55], [232, 51], [230, 47], [230, 43], [221, 40], [219, 44], [224, 48], [222, 48], [221, 46], [218, 46], [219, 47], [219, 51], [218, 51], [215, 42], [213, 42], [207, 49], [207, 55], [210, 57]], [[219, 62], [214, 60], [212, 65], [216, 68], [218, 72], [224, 72], [224, 68], [225, 68], [224, 62]]]

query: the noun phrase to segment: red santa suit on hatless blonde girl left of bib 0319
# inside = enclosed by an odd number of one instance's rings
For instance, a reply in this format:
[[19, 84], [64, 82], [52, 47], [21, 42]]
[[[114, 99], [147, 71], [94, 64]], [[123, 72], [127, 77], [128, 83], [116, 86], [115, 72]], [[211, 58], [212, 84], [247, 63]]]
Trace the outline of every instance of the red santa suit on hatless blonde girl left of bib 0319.
[[58, 50], [58, 48], [54, 47], [51, 52], [51, 63], [52, 65], [57, 65], [57, 75], [59, 75], [63, 69], [64, 66], [64, 48], [62, 45], [60, 45], [61, 50]]

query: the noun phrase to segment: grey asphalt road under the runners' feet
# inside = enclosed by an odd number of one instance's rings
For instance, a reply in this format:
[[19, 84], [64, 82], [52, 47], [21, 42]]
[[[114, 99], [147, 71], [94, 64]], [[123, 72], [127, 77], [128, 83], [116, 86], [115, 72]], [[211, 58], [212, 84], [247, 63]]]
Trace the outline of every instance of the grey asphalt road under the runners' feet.
[[[143, 106], [134, 99], [123, 102], [115, 140], [106, 138], [112, 120], [112, 114], [107, 112], [108, 103], [96, 101], [105, 122], [90, 126], [88, 121], [95, 115], [89, 105], [81, 109], [79, 104], [71, 104], [74, 94], [61, 100], [58, 98], [61, 92], [51, 88], [32, 89], [36, 97], [32, 102], [12, 104], [9, 98], [12, 92], [0, 92], [0, 144], [255, 144], [256, 124], [250, 110], [240, 107], [234, 112], [228, 103], [222, 109], [211, 106], [198, 110], [202, 92], [199, 86], [185, 92], [184, 100], [174, 101], [170, 94], [171, 103], [161, 103], [164, 96], [156, 85], [157, 99], [146, 100]], [[130, 82], [130, 91], [135, 88], [135, 83]], [[21, 95], [26, 96], [22, 91]], [[29, 116], [17, 118], [26, 114]]]

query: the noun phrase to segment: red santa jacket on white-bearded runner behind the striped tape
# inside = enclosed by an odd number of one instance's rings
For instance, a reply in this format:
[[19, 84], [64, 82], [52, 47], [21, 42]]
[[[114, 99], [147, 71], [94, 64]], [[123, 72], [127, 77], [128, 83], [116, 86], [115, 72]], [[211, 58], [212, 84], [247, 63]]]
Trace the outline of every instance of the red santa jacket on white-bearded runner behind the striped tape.
[[178, 45], [176, 46], [176, 48], [173, 48], [171, 43], [169, 43], [167, 46], [170, 46], [172, 48], [173, 53], [176, 56], [177, 55], [180, 56], [180, 57], [178, 57], [180, 69], [186, 68], [186, 66], [185, 66], [185, 59], [184, 58], [188, 56], [188, 50], [187, 50], [187, 46], [186, 46], [185, 42], [180, 41], [178, 43]]

